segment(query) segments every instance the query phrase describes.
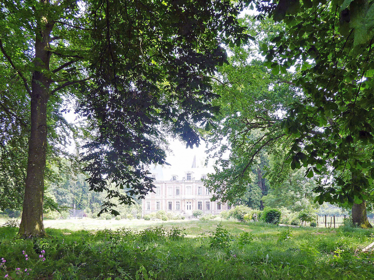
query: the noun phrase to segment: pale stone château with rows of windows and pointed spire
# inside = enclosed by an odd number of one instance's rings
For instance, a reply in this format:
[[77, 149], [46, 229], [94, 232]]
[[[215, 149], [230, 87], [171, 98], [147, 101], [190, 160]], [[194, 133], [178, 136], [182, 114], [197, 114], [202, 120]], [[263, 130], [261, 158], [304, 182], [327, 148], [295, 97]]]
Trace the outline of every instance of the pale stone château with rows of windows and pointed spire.
[[142, 200], [142, 214], [163, 210], [181, 216], [192, 216], [195, 210], [219, 214], [230, 209], [227, 203], [211, 201], [213, 193], [205, 188], [201, 181], [206, 178], [208, 171], [207, 168], [197, 168], [195, 158], [191, 169], [184, 171], [183, 174], [165, 172], [161, 166], [151, 169], [156, 189], [155, 193], [150, 192]]

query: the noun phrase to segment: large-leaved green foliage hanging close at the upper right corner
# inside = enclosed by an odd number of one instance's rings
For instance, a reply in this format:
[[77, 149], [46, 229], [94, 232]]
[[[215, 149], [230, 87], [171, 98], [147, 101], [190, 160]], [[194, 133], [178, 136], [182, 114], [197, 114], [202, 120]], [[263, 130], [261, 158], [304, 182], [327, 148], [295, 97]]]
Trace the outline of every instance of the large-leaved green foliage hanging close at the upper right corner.
[[333, 180], [320, 180], [316, 188], [320, 204], [369, 199], [374, 174], [373, 2], [265, 0], [256, 7], [285, 24], [271, 44], [261, 46], [265, 64], [273, 73], [291, 67], [299, 73], [292, 82], [302, 100], [293, 102], [282, 122], [292, 139], [287, 163], [292, 169], [307, 167], [308, 178], [332, 174]]

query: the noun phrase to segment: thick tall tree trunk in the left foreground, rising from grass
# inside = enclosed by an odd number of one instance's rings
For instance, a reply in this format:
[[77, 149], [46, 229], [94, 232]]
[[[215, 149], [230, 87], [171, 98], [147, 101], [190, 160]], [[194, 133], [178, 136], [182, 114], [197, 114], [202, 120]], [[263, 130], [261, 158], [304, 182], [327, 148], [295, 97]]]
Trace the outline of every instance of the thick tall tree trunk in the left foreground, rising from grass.
[[[44, 2], [48, 4], [48, 2]], [[40, 16], [35, 39], [36, 70], [49, 70], [49, 41], [53, 24]], [[31, 135], [25, 181], [25, 198], [18, 234], [23, 238], [43, 236], [44, 171], [47, 153], [47, 103], [50, 79], [42, 71], [34, 71], [31, 81]]]

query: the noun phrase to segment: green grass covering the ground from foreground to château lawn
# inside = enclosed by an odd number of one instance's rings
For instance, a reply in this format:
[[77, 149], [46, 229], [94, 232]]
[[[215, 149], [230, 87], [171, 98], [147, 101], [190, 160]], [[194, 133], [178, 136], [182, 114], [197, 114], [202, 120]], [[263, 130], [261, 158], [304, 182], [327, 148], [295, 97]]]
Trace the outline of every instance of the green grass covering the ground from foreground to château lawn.
[[[101, 221], [109, 226], [105, 220], [96, 220]], [[88, 230], [78, 231], [47, 228], [48, 238], [33, 241], [18, 240], [15, 228], [3, 227], [0, 228], [0, 258], [6, 259], [7, 272], [0, 272], [0, 277], [6, 273], [16, 276], [16, 268], [22, 271], [31, 268], [30, 275], [23, 273], [22, 276], [30, 279], [136, 279], [137, 274], [142, 279], [147, 271], [148, 275], [157, 274], [157, 279], [374, 278], [374, 256], [371, 252], [360, 253], [372, 242], [371, 230], [295, 228], [289, 234], [293, 237], [282, 241], [280, 233], [287, 228], [224, 221], [222, 225], [231, 234], [231, 243], [223, 248], [212, 248], [210, 236], [218, 223], [141, 223], [134, 220], [127, 223], [131, 230], [122, 231], [93, 231], [93, 225], [87, 227]], [[159, 227], [161, 224], [163, 229]], [[149, 226], [153, 229], [143, 231]], [[164, 229], [170, 231], [173, 227], [185, 228], [187, 235], [181, 238], [162, 236]], [[80, 227], [76, 224], [76, 228]], [[250, 233], [252, 242], [241, 243], [242, 232]], [[45, 262], [39, 259], [43, 249]], [[28, 253], [28, 261], [22, 251]]]

